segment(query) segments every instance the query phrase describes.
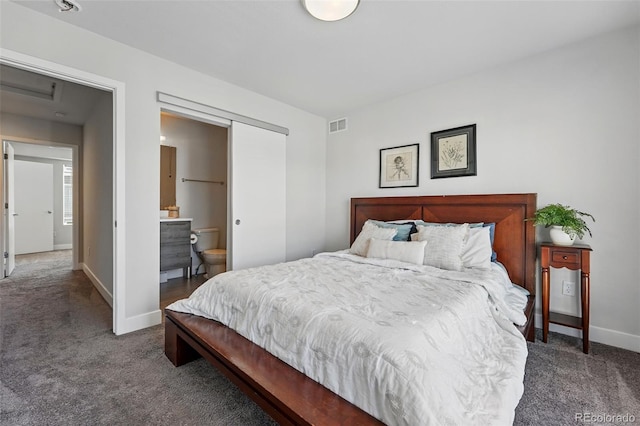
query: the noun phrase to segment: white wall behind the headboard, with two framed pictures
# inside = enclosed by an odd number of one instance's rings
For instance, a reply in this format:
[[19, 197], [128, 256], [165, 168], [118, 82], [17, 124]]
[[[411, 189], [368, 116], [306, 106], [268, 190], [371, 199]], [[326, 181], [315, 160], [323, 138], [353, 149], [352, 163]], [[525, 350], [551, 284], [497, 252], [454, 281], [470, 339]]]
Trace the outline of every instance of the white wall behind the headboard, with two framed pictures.
[[[328, 137], [327, 248], [348, 246], [350, 197], [537, 192], [595, 216], [591, 335], [640, 351], [639, 51], [627, 29], [351, 112]], [[431, 180], [430, 133], [472, 123], [477, 176]], [[379, 189], [379, 149], [416, 142], [420, 186]]]

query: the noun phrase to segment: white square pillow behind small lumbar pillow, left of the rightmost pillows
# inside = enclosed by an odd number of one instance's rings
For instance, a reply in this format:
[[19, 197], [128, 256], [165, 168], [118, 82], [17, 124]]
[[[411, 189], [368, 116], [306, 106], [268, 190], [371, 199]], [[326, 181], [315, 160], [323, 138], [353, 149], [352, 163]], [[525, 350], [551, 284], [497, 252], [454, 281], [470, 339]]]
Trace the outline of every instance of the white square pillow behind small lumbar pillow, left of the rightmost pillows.
[[418, 225], [417, 241], [427, 241], [423, 263], [436, 268], [461, 271], [462, 247], [469, 233], [469, 224], [454, 226]]

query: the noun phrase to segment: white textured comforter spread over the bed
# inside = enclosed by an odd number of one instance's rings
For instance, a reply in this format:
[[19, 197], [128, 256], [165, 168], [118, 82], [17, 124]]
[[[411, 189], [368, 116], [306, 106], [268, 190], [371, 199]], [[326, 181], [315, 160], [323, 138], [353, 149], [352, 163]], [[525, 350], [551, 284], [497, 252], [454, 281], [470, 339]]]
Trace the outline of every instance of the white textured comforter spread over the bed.
[[218, 275], [167, 309], [220, 321], [389, 425], [506, 425], [525, 302], [498, 266], [336, 252]]

